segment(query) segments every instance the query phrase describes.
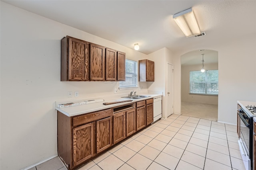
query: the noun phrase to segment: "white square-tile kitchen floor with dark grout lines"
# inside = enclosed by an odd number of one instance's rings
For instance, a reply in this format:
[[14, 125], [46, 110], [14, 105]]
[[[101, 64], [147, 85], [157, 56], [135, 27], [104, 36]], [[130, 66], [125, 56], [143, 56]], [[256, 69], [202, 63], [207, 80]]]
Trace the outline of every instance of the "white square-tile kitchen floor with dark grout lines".
[[[236, 126], [170, 115], [78, 170], [245, 170]], [[66, 170], [54, 158], [32, 170]]]

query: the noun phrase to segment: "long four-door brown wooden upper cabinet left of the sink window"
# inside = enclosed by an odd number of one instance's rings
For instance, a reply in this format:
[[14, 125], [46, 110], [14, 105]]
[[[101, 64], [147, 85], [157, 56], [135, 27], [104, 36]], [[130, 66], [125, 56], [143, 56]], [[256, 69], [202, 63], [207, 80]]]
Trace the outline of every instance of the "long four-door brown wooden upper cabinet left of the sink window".
[[125, 81], [125, 53], [66, 36], [61, 39], [61, 81]]

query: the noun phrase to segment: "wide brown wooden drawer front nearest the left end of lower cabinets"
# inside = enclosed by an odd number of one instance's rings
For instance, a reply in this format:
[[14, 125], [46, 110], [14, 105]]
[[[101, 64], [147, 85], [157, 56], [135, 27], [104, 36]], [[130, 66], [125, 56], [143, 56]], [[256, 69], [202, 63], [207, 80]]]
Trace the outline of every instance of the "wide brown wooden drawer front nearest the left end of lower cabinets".
[[111, 115], [112, 115], [112, 109], [107, 109], [107, 110], [97, 111], [97, 112], [73, 117], [73, 126], [81, 125], [91, 121], [96, 121], [104, 117], [109, 117]]

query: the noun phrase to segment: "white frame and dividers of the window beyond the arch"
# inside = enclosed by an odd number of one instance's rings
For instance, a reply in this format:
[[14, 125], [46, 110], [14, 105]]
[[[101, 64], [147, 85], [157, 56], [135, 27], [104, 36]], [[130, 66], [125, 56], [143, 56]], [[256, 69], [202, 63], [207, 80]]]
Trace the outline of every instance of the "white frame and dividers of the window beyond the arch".
[[[195, 71], [190, 71], [189, 72], [189, 94], [192, 94], [192, 95], [204, 95], [204, 96], [218, 96], [219, 94], [219, 88], [218, 88], [218, 94], [210, 94], [208, 93], [208, 89], [207, 89], [207, 84], [209, 83], [209, 81], [207, 80], [207, 72], [208, 71], [216, 71], [216, 70], [205, 70], [205, 72], [203, 72], [205, 74], [205, 79], [204, 81], [200, 82], [200, 83], [204, 83], [204, 90], [205, 90], [205, 93], [195, 93], [195, 92], [191, 92], [191, 72], [201, 72], [201, 71], [198, 71], [198, 70], [195, 70]], [[217, 70], [218, 71], [218, 70]], [[219, 75], [218, 75], [218, 79], [219, 79]], [[192, 82], [196, 82], [196, 81], [192, 81]], [[199, 83], [199, 82], [197, 82]], [[216, 82], [216, 81], [211, 81], [210, 83], [219, 83], [219, 82]]]

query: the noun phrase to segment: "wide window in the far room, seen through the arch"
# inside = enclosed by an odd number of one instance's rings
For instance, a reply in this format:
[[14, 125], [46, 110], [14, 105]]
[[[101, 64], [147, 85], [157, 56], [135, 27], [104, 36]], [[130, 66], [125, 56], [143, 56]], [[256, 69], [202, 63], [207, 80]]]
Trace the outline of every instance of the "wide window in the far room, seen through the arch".
[[218, 95], [218, 70], [190, 71], [190, 93]]

